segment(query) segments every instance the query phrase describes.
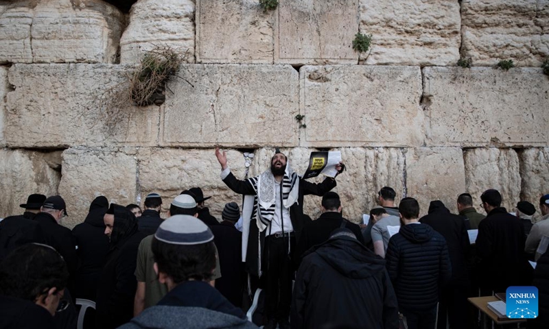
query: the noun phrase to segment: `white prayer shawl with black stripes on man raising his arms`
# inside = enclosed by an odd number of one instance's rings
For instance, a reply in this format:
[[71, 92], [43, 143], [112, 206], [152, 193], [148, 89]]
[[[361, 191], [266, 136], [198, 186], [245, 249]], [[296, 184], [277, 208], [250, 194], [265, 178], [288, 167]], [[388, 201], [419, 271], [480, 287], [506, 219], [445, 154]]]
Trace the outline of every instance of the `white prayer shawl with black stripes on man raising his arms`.
[[[244, 205], [242, 206], [242, 261], [246, 261], [248, 250], [248, 236], [250, 235], [250, 221], [255, 218], [259, 232], [263, 232], [274, 217], [275, 198], [277, 184], [274, 184], [274, 175], [269, 170], [264, 171], [261, 175], [249, 178], [248, 181], [255, 189], [256, 195], [245, 195]], [[286, 164], [284, 178], [282, 180], [282, 203], [284, 208], [290, 208], [297, 202], [299, 198], [299, 175], [290, 169], [290, 164]], [[259, 210], [259, 211], [258, 211]], [[258, 238], [259, 239], [259, 236]], [[261, 241], [258, 241], [259, 246], [259, 269], [261, 269]], [[261, 275], [261, 272], [259, 272]]]

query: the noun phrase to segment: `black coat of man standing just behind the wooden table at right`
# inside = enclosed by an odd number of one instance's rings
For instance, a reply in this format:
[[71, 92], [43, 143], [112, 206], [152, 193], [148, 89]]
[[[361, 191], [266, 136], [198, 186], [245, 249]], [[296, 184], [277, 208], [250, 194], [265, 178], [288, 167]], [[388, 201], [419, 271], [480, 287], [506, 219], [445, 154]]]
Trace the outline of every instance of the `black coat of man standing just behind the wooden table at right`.
[[530, 283], [530, 265], [524, 254], [524, 227], [505, 208], [495, 208], [478, 225], [476, 239], [480, 263], [480, 285], [505, 292], [509, 286]]

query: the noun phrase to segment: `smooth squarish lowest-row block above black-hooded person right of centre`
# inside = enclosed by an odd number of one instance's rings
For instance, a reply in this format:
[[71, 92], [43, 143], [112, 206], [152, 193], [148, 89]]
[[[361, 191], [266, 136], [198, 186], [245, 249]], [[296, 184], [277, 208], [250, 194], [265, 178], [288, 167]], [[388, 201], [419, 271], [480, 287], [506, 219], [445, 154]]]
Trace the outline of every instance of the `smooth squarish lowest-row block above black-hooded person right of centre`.
[[463, 152], [459, 147], [418, 147], [406, 153], [406, 190], [419, 202], [419, 214], [427, 215], [429, 204], [441, 200], [456, 213], [458, 195], [465, 192]]

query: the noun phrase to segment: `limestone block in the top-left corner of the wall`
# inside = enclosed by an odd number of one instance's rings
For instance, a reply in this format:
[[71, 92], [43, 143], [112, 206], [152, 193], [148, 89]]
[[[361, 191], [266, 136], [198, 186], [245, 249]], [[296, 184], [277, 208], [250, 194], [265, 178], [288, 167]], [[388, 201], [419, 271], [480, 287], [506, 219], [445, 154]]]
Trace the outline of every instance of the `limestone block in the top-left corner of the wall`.
[[32, 63], [30, 1], [0, 1], [0, 64]]

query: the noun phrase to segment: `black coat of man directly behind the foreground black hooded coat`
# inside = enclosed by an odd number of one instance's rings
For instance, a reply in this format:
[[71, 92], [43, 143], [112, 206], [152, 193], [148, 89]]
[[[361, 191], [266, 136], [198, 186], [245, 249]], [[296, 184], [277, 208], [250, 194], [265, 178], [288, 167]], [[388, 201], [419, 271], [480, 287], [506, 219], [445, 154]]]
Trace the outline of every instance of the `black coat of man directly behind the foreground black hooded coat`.
[[[296, 260], [301, 261], [303, 254], [314, 245], [320, 245], [330, 238], [331, 232], [340, 228], [342, 221], [345, 221], [345, 228], [348, 228], [356, 236], [356, 239], [364, 244], [364, 236], [360, 231], [360, 226], [344, 219], [340, 212], [324, 212], [316, 221], [308, 223], [303, 227], [296, 246]], [[298, 264], [299, 265], [299, 264]]]

